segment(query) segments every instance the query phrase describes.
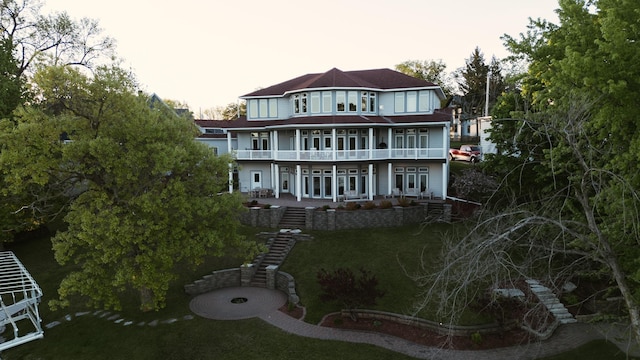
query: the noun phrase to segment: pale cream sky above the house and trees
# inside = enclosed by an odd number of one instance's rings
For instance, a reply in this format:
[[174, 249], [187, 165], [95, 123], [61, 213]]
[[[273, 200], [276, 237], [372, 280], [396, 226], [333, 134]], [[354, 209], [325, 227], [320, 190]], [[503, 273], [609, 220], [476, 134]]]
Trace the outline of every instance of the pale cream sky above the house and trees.
[[557, 0], [44, 0], [42, 13], [97, 19], [142, 90], [201, 111], [332, 68], [442, 61], [452, 73], [479, 47], [508, 55], [529, 18], [557, 23]]

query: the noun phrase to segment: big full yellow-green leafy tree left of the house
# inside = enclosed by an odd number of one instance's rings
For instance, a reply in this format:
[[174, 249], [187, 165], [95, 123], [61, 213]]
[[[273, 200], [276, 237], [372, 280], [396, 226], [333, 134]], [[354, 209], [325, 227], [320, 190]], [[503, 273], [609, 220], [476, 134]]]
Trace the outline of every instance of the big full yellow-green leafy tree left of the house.
[[194, 141], [192, 121], [151, 106], [116, 67], [91, 78], [50, 67], [35, 82], [42, 103], [2, 124], [0, 167], [11, 191], [34, 193], [24, 208], [68, 199], [68, 228], [53, 248], [58, 262], [78, 266], [54, 305], [80, 295], [119, 308], [119, 296], [133, 289], [142, 310], [158, 309], [178, 264], [228, 247], [249, 254], [236, 233], [241, 199], [225, 192], [231, 159]]

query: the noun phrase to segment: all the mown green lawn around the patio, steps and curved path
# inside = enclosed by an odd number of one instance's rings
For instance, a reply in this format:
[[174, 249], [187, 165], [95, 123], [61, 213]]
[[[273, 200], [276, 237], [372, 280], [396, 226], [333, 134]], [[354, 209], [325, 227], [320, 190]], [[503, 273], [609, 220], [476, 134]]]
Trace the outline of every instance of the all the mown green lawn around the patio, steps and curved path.
[[[371, 270], [387, 294], [377, 309], [409, 313], [416, 290], [413, 282], [402, 271], [400, 264], [414, 272], [419, 267], [423, 247], [428, 256], [437, 256], [438, 232], [446, 227], [434, 227], [418, 234], [417, 227], [371, 229], [369, 231], [339, 231], [313, 233], [315, 240], [299, 242], [286, 260], [283, 269], [296, 277], [298, 292], [308, 309], [307, 320], [317, 322], [324, 314], [337, 311], [333, 304], [317, 299], [315, 276], [324, 267], [364, 267]], [[242, 228], [247, 235], [264, 229]], [[56, 295], [59, 281], [69, 268], [59, 266], [53, 259], [47, 238], [10, 244], [8, 250], [16, 253], [43, 288], [40, 306], [43, 324], [61, 321], [45, 329], [42, 340], [32, 341], [2, 353], [4, 360], [14, 359], [409, 359], [371, 345], [324, 341], [287, 334], [259, 319], [242, 321], [213, 321], [191, 315], [190, 297], [182, 286], [215, 270], [238, 266], [236, 258], [212, 258], [195, 271], [179, 273], [180, 280], [169, 291], [167, 307], [158, 312], [140, 313], [135, 301], [125, 304], [130, 309], [120, 312], [133, 321], [129, 326], [115, 324], [92, 314], [76, 317], [77, 312], [90, 309], [75, 307], [64, 311], [51, 311], [47, 302]], [[72, 315], [71, 321], [64, 319]], [[421, 316], [423, 316], [421, 314]], [[176, 318], [171, 324], [138, 326], [138, 322]], [[589, 345], [589, 344], [588, 344]], [[595, 349], [593, 348], [595, 347]], [[576, 352], [577, 351], [577, 352]], [[596, 343], [586, 350], [576, 350], [557, 359], [615, 358], [619, 352], [609, 343]], [[597, 354], [591, 356], [592, 354]]]

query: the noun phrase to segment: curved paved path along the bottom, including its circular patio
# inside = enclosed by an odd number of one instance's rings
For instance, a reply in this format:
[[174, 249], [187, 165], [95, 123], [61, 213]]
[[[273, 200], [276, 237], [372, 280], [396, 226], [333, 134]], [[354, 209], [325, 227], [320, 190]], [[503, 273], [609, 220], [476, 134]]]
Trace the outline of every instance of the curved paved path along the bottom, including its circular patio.
[[[619, 335], [616, 332], [609, 337], [606, 334], [603, 335], [602, 328], [576, 323], [561, 325], [551, 339], [542, 342], [490, 350], [449, 350], [423, 346], [385, 334], [312, 325], [278, 311], [286, 301], [286, 295], [278, 290], [234, 287], [198, 295], [189, 306], [197, 315], [209, 319], [234, 320], [259, 317], [273, 326], [298, 336], [371, 344], [418, 359], [432, 360], [538, 359], [576, 348], [595, 339], [607, 338], [614, 341], [617, 337], [614, 335]], [[617, 345], [622, 350], [628, 350], [624, 344], [617, 343]]]

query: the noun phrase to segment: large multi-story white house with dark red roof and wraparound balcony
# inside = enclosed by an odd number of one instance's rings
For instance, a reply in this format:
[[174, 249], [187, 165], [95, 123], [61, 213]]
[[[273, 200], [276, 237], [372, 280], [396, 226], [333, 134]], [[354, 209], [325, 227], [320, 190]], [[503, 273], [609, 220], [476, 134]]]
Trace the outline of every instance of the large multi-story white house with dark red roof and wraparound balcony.
[[198, 140], [233, 153], [242, 192], [333, 201], [395, 189], [447, 195], [452, 113], [439, 110], [436, 84], [389, 69], [334, 68], [240, 98], [246, 117], [196, 124]]

